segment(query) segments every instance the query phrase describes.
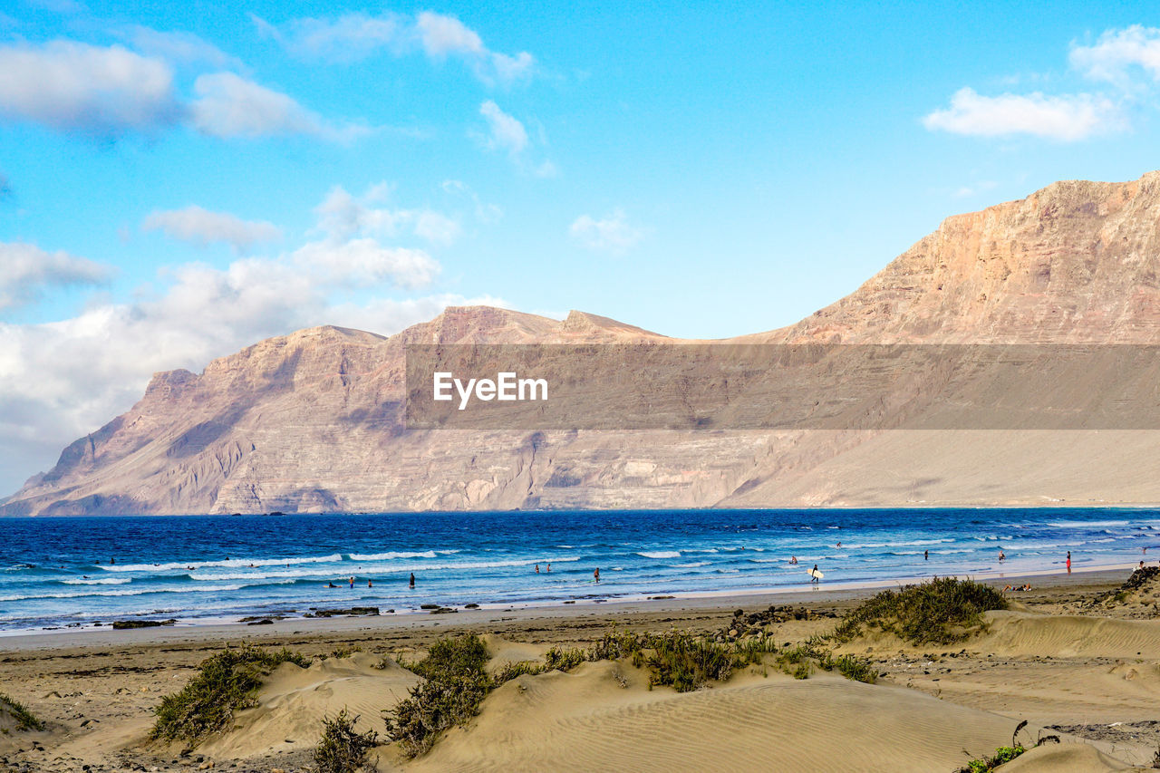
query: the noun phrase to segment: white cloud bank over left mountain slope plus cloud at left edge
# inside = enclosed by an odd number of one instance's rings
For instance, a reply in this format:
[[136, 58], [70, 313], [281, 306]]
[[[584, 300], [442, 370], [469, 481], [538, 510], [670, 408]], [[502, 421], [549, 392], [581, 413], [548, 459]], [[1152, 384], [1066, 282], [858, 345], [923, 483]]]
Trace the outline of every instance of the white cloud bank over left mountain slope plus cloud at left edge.
[[[317, 210], [314, 240], [274, 258], [239, 258], [225, 268], [183, 263], [131, 303], [90, 303], [56, 323], [0, 323], [0, 454], [20, 460], [0, 469], [0, 496], [131, 406], [154, 371], [201, 370], [211, 357], [314, 325], [393, 333], [448, 305], [507, 305], [450, 294], [390, 297], [392, 288], [429, 286], [441, 268], [423, 250], [379, 238], [435, 238], [454, 221], [433, 210], [376, 208], [389, 194], [385, 185], [360, 198], [335, 188]], [[29, 298], [41, 287], [103, 275], [64, 253], [0, 250], [0, 297]]]

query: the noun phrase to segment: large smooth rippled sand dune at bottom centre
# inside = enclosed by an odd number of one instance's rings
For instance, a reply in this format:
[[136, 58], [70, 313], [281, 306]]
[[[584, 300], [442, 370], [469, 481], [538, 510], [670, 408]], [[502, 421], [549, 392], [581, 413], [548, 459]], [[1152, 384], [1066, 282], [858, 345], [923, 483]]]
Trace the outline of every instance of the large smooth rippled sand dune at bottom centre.
[[749, 672], [679, 694], [603, 662], [506, 684], [404, 770], [929, 773], [962, 765], [964, 749], [993, 751], [1013, 729], [1007, 717], [828, 674]]

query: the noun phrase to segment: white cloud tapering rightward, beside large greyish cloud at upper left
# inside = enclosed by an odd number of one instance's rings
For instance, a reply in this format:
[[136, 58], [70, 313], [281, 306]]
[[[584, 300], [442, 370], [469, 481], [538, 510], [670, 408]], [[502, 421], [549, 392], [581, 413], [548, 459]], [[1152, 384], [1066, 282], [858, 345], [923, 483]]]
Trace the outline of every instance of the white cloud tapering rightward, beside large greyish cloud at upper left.
[[333, 127], [290, 96], [232, 72], [198, 75], [194, 92], [193, 124], [213, 137], [314, 135], [345, 140], [368, 131], [364, 127]]

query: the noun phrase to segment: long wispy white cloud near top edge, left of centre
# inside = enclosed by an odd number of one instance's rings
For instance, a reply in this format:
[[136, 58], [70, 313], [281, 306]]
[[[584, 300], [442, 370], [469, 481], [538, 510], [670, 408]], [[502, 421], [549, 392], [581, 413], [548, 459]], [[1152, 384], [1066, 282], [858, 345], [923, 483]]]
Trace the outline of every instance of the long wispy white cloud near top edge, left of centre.
[[282, 26], [251, 14], [261, 35], [303, 58], [350, 63], [380, 50], [404, 56], [415, 49], [441, 62], [456, 58], [487, 85], [512, 85], [530, 78], [536, 59], [527, 51], [502, 53], [455, 16], [423, 10], [415, 16], [348, 13], [336, 19], [296, 19]]

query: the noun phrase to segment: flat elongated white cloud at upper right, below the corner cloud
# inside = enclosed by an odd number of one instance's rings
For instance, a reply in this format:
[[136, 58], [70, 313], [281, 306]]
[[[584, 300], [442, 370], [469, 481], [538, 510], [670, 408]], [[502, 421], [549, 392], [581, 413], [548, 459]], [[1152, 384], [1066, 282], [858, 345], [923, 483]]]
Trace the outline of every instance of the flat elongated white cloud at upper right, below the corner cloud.
[[1031, 135], [1064, 142], [1085, 139], [1123, 125], [1115, 103], [1102, 96], [1045, 96], [1039, 92], [981, 96], [971, 88], [956, 92], [950, 108], [930, 113], [922, 123], [931, 131], [956, 135]]

